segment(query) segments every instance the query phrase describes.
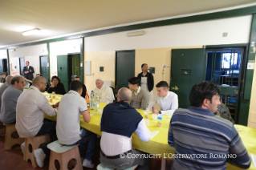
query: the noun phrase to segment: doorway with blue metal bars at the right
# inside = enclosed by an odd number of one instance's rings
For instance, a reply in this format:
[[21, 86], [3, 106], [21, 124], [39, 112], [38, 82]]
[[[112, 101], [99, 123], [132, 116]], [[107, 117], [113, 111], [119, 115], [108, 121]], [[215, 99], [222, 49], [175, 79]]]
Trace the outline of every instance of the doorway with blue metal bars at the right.
[[221, 102], [229, 108], [234, 121], [238, 122], [244, 48], [206, 49], [206, 54], [205, 80], [221, 88]]

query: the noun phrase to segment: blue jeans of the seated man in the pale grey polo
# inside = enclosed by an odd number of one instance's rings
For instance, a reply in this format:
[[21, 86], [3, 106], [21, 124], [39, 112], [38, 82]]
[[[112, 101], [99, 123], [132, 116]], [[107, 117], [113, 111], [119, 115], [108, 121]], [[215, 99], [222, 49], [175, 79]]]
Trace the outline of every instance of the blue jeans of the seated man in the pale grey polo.
[[70, 146], [79, 144], [80, 157], [84, 156], [84, 152], [87, 148], [84, 159], [91, 161], [91, 156], [93, 156], [93, 154], [94, 154], [97, 135], [95, 133], [87, 131], [83, 127], [80, 128], [80, 132], [81, 132], [81, 135], [80, 135], [81, 139], [79, 141], [75, 142], [75, 144], [70, 144]]

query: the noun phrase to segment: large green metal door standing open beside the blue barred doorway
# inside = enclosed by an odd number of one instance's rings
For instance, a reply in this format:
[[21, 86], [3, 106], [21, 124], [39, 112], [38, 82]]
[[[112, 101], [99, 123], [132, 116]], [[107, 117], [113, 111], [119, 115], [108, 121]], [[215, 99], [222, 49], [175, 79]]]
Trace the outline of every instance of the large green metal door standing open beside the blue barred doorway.
[[179, 107], [189, 107], [194, 84], [205, 80], [205, 49], [172, 50], [170, 91], [178, 95]]

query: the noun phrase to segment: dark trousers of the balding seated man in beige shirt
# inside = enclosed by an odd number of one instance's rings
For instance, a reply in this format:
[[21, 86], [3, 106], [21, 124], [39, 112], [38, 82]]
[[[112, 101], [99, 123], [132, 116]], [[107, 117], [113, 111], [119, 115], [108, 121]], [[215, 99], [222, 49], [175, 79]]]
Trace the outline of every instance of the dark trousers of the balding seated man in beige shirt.
[[[50, 144], [51, 142], [58, 140], [56, 136], [56, 123], [52, 122], [51, 120], [44, 119], [42, 127], [35, 136], [42, 136], [49, 133], [54, 133], [54, 136], [51, 137], [50, 142], [48, 142], [47, 144]], [[50, 156], [51, 151], [50, 149], [47, 148], [47, 144], [43, 146], [42, 150], [47, 156]]]

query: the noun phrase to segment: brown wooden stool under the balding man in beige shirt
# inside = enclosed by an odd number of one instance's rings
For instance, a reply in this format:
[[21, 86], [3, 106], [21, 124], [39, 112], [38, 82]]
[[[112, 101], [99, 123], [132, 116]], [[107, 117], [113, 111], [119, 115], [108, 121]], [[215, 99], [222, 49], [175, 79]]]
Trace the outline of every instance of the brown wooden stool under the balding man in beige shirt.
[[34, 156], [34, 150], [38, 149], [41, 144], [47, 144], [50, 141], [49, 134], [45, 134], [43, 136], [34, 136], [26, 138], [25, 140], [25, 148], [24, 148], [24, 156], [23, 160], [31, 161], [31, 164], [34, 168], [38, 166]]

